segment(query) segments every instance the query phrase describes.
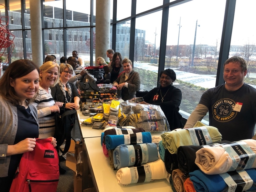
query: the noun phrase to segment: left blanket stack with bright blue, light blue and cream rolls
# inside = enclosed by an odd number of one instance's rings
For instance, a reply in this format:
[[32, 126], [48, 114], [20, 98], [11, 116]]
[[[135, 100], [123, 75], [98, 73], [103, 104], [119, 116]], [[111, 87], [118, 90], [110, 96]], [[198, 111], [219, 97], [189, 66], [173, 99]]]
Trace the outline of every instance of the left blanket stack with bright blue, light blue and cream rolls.
[[[119, 184], [150, 182], [166, 179], [164, 163], [150, 132], [131, 127], [108, 127], [101, 137], [103, 152], [114, 170]], [[154, 137], [158, 143], [159, 138]], [[147, 170], [150, 170], [150, 174]], [[135, 177], [136, 175], [136, 177]]]

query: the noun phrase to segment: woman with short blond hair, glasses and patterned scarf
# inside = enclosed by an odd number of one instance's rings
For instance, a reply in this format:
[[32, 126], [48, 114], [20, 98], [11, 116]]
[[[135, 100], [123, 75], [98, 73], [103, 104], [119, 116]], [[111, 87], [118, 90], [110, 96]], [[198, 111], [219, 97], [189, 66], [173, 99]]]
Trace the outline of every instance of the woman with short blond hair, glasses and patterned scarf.
[[76, 86], [68, 82], [73, 73], [73, 67], [69, 64], [60, 65], [60, 81], [55, 87], [51, 87], [52, 97], [55, 102], [61, 102], [66, 109], [79, 109], [80, 97]]

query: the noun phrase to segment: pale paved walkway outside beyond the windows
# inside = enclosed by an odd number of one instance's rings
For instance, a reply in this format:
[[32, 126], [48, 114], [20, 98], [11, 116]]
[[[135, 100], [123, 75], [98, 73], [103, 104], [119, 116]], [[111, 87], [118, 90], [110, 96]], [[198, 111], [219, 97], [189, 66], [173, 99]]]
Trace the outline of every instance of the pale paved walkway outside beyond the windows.
[[[158, 67], [157, 66], [152, 66], [149, 63], [134, 63], [134, 67], [153, 71], [153, 72], [158, 72]], [[178, 71], [175, 70], [176, 68], [172, 68], [173, 71], [176, 73], [177, 79], [192, 83], [196, 86], [201, 86], [204, 88], [213, 88], [215, 87], [216, 83], [216, 75], [200, 75], [200, 74], [194, 74], [194, 73], [188, 73], [184, 71]], [[250, 74], [250, 76], [256, 78], [256, 74]], [[256, 85], [251, 85], [254, 88], [256, 88]]]

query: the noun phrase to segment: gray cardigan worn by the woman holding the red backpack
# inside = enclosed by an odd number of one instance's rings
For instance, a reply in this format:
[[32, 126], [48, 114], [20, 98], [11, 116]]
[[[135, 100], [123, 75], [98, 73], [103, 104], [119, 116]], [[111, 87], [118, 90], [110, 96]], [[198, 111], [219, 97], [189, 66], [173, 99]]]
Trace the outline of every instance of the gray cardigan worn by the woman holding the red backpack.
[[[6, 156], [7, 147], [14, 143], [18, 129], [18, 116], [17, 107], [2, 96], [0, 96], [0, 106], [0, 177], [7, 177], [11, 160], [11, 156]], [[32, 105], [29, 105], [29, 108], [39, 128], [37, 109]]]

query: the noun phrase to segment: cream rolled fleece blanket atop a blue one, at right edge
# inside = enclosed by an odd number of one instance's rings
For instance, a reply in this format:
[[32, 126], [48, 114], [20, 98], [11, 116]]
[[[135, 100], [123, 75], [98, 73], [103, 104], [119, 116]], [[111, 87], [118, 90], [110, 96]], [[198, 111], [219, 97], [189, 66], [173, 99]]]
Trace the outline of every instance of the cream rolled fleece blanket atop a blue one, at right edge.
[[[256, 153], [256, 140], [245, 139], [245, 140], [241, 140], [241, 141], [244, 141], [245, 143], [247, 143], [249, 145], [249, 149], [251, 149], [252, 152]], [[243, 150], [243, 148], [239, 145], [235, 145], [234, 148]], [[228, 149], [228, 151], [229, 150], [230, 149]], [[237, 151], [239, 152], [239, 150], [237, 150]], [[237, 156], [238, 156], [238, 154], [237, 154]], [[242, 160], [243, 160], [243, 157], [241, 158], [241, 162], [242, 162]], [[246, 163], [248, 163], [248, 162], [246, 162]], [[246, 163], [244, 163], [244, 164], [246, 165]], [[231, 171], [230, 168], [232, 166], [234, 166], [230, 154], [228, 154], [227, 151], [225, 151], [225, 149], [221, 146], [206, 147], [206, 148], [199, 149], [196, 152], [195, 164], [204, 173], [210, 174], [210, 175], [220, 174], [220, 173], [225, 173], [227, 171]], [[254, 156], [254, 158], [252, 158], [252, 167], [251, 168], [256, 168], [255, 156]]]

